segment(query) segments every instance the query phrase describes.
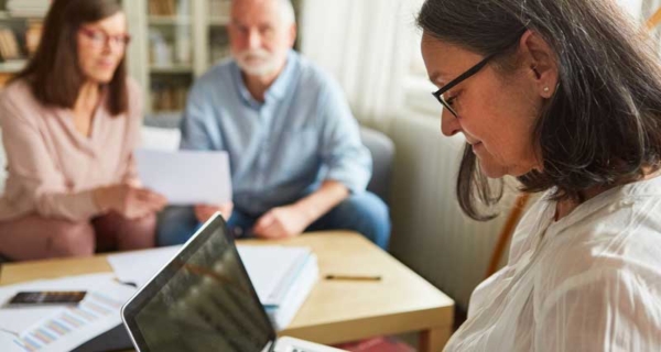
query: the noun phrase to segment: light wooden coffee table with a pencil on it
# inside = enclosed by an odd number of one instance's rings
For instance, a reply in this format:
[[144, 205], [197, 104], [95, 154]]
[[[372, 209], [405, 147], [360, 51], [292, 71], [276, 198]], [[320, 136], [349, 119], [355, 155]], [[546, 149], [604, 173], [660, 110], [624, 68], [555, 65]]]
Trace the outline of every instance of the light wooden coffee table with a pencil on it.
[[[321, 279], [281, 334], [324, 344], [420, 332], [420, 351], [441, 351], [452, 333], [454, 301], [359, 234], [316, 232], [246, 245], [308, 246]], [[41, 278], [111, 272], [105, 255], [6, 264], [0, 285]], [[328, 274], [379, 275], [378, 282], [327, 280]]]

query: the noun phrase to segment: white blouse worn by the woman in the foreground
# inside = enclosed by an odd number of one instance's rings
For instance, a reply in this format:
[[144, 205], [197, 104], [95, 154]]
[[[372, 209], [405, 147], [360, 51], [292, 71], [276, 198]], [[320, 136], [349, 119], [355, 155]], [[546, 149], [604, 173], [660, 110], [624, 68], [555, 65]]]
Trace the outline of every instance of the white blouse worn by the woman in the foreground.
[[661, 351], [661, 177], [554, 213], [521, 220], [445, 351]]

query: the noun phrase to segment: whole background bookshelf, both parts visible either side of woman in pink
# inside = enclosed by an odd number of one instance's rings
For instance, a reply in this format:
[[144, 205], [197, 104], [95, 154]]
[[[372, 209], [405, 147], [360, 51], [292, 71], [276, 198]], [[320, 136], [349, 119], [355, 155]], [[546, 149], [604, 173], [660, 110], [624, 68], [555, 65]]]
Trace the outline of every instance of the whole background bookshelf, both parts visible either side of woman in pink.
[[[0, 0], [0, 87], [36, 48], [51, 0]], [[294, 0], [296, 10], [301, 0]], [[129, 74], [144, 89], [145, 113], [178, 112], [193, 81], [229, 56], [230, 0], [122, 1]], [[3, 55], [6, 54], [6, 55]]]

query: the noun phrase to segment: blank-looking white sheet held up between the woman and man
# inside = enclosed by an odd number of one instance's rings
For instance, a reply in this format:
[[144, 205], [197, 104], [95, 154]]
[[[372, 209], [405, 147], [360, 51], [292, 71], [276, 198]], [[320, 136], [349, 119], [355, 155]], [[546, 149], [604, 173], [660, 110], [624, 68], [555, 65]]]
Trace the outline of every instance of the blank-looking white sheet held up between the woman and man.
[[138, 174], [144, 187], [172, 205], [221, 205], [231, 201], [226, 152], [137, 150]]

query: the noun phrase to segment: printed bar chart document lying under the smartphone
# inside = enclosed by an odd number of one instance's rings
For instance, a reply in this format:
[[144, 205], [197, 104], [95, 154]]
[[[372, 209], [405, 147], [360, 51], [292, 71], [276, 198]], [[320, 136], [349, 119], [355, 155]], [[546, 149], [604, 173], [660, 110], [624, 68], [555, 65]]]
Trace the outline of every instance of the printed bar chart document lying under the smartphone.
[[0, 301], [19, 290], [87, 290], [76, 306], [0, 308], [0, 350], [69, 351], [121, 323], [120, 309], [136, 292], [112, 274], [0, 287]]

